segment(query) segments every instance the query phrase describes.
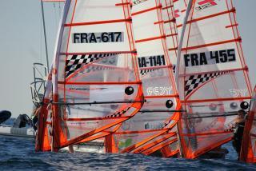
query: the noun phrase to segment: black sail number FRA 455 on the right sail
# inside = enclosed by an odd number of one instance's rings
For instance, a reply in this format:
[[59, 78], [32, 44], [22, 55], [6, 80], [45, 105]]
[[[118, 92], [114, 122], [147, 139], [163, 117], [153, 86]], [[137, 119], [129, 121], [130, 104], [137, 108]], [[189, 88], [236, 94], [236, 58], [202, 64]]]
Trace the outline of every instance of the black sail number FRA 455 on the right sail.
[[235, 50], [216, 50], [198, 54], [184, 54], [185, 66], [206, 66], [227, 62], [235, 62]]

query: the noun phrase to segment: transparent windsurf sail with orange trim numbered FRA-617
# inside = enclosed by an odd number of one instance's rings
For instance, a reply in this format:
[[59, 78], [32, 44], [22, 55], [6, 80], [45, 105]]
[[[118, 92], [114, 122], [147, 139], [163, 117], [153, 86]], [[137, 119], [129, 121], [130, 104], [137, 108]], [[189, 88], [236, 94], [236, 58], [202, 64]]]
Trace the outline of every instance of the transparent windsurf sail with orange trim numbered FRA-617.
[[37, 150], [105, 137], [142, 107], [131, 21], [128, 0], [65, 2]]

